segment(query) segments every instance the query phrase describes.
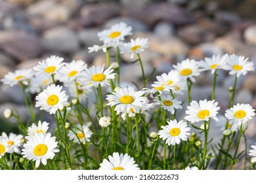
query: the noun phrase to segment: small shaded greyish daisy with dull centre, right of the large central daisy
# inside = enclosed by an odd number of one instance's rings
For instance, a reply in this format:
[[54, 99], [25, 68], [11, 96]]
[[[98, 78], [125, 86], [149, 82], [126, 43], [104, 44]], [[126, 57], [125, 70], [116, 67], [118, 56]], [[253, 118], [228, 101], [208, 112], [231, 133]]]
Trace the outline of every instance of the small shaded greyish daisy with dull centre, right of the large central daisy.
[[158, 105], [165, 110], [171, 112], [171, 114], [175, 113], [175, 109], [182, 108], [181, 101], [178, 99], [173, 99], [170, 95], [161, 95], [161, 100], [159, 98], [154, 99]]

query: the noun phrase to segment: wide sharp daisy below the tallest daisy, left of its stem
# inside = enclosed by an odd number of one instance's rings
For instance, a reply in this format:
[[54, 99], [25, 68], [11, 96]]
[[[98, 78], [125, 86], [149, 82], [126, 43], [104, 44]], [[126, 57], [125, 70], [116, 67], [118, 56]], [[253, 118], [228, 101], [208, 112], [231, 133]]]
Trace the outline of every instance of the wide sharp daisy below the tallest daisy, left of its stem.
[[114, 69], [112, 69], [112, 67], [108, 67], [108, 69], [104, 71], [104, 65], [96, 67], [93, 65], [93, 67], [85, 69], [85, 71], [82, 72], [79, 80], [95, 87], [98, 87], [98, 84], [100, 84], [100, 86], [106, 86], [110, 85], [110, 79], [115, 78], [116, 73], [113, 72]]

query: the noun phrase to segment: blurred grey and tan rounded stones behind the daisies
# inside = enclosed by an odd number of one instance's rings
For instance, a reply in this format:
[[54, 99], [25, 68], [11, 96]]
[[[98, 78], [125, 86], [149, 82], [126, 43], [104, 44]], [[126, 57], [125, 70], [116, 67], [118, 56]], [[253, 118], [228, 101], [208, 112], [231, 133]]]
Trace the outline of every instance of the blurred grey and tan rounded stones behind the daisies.
[[[9, 71], [31, 68], [52, 54], [65, 61], [83, 59], [89, 65], [102, 65], [105, 54], [89, 54], [87, 48], [102, 44], [98, 31], [118, 22], [133, 27], [127, 41], [148, 37], [150, 46], [141, 54], [146, 75], [154, 68], [155, 75], [167, 73], [185, 58], [200, 60], [213, 54], [243, 55], [256, 65], [255, 8], [255, 0], [0, 0], [0, 78]], [[139, 65], [129, 64], [129, 55], [121, 59], [122, 80], [141, 82]], [[235, 103], [256, 108], [255, 72], [238, 79]], [[198, 76], [192, 99], [209, 99], [212, 82], [211, 73]], [[221, 112], [228, 107], [228, 87], [233, 82], [234, 76], [219, 71], [215, 98]], [[7, 107], [16, 108], [22, 120], [30, 117], [18, 86], [0, 84], [1, 122]], [[0, 132], [6, 131], [1, 122]], [[256, 142], [256, 118], [248, 125], [250, 146]], [[216, 141], [222, 137], [217, 127], [210, 135]]]

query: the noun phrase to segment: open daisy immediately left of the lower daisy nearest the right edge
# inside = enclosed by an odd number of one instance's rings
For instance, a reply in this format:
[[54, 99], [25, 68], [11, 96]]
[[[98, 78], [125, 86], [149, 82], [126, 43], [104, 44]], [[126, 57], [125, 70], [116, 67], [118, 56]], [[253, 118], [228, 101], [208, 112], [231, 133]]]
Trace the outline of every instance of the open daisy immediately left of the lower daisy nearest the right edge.
[[218, 103], [213, 101], [191, 101], [190, 106], [187, 107], [185, 120], [190, 121], [191, 123], [208, 121], [210, 118], [218, 121], [217, 118], [218, 110], [220, 107], [217, 107]]

